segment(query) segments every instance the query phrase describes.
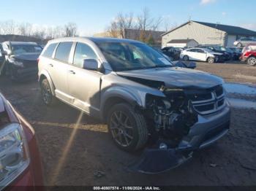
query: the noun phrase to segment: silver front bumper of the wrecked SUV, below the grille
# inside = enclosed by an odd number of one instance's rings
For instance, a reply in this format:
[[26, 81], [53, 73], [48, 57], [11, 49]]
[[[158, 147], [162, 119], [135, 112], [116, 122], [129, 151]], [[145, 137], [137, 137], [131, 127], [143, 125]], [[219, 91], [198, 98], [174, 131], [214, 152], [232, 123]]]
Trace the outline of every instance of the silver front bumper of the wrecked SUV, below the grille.
[[196, 150], [214, 144], [225, 136], [230, 128], [230, 106], [207, 116], [198, 116], [198, 122], [190, 129], [189, 135], [181, 141], [178, 150]]

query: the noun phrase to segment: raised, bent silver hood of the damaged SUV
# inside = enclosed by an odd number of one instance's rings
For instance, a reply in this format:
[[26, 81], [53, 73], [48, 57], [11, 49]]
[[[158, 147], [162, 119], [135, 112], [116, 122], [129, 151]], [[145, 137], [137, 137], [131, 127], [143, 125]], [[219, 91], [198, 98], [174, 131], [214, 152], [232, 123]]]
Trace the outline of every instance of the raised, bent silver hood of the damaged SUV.
[[203, 71], [178, 67], [117, 71], [116, 74], [122, 77], [134, 77], [137, 79], [148, 79], [164, 82], [165, 86], [169, 88], [211, 88], [221, 85], [224, 82], [222, 78]]

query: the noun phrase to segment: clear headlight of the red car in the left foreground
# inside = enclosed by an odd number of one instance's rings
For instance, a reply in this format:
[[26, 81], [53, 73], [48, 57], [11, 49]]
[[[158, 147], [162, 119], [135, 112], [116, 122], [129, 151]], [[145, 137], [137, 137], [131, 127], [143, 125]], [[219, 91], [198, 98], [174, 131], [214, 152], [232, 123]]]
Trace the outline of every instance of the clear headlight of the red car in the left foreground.
[[9, 103], [1, 95], [0, 104], [4, 105], [4, 111], [0, 112], [1, 189], [15, 180], [29, 166], [30, 159], [26, 136], [20, 123], [13, 120], [15, 114], [12, 107], [8, 106]]

